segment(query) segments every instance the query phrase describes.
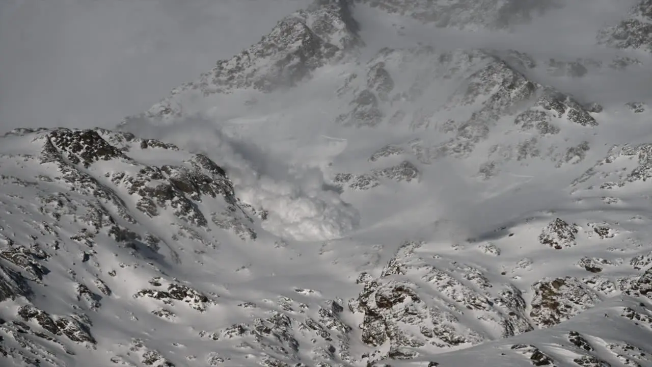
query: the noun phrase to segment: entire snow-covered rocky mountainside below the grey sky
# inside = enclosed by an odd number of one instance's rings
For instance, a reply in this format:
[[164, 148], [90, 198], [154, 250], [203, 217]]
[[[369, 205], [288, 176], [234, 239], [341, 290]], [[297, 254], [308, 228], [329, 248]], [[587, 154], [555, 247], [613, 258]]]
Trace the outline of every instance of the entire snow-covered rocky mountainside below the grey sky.
[[1, 137], [3, 359], [652, 366], [652, 97], [587, 90], [650, 70], [649, 1], [589, 56], [409, 38], [568, 5], [319, 0], [115, 129]]

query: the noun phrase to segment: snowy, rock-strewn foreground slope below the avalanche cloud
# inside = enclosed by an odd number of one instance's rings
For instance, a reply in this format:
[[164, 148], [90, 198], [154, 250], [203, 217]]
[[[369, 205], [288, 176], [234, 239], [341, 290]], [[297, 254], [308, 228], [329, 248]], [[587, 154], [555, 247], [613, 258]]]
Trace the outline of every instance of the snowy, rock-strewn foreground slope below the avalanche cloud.
[[[640, 217], [610, 214], [618, 223], [608, 223], [587, 212], [562, 215], [593, 220], [582, 229], [542, 215], [461, 242], [437, 239], [450, 229], [439, 222], [432, 239], [400, 244], [380, 269], [370, 255], [393, 246], [361, 254], [364, 233], [321, 246], [269, 234], [261, 223], [271, 214], [238, 199], [226, 172], [205, 155], [101, 129], [23, 129], [2, 146], [10, 214], [1, 223], [2, 351], [16, 365], [241, 366], [254, 359], [355, 366], [433, 359], [524, 332], [535, 346], [517, 345], [510, 355], [558, 360], [537, 345], [557, 338], [555, 325], [585, 310], [595, 315], [594, 308], [613, 313], [624, 330], [631, 322], [652, 331], [650, 270], [640, 270], [652, 253], [634, 237], [619, 240]], [[555, 266], [542, 267], [551, 260]], [[355, 281], [363, 262], [371, 273]], [[617, 301], [621, 294], [639, 304]], [[613, 306], [602, 305], [609, 298]], [[531, 331], [537, 328], [551, 331]], [[600, 328], [576, 330], [605, 338]], [[607, 359], [642, 359], [627, 357], [631, 338], [608, 340], [614, 354]], [[606, 352], [574, 353], [591, 361]]]

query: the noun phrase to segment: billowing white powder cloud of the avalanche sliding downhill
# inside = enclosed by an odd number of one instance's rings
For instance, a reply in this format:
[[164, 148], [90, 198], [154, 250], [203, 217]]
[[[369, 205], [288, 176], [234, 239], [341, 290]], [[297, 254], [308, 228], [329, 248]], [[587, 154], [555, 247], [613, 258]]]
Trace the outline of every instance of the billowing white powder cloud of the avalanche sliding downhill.
[[139, 136], [157, 138], [201, 152], [222, 166], [237, 197], [269, 212], [263, 228], [303, 241], [339, 238], [359, 225], [358, 211], [327, 189], [317, 167], [289, 164], [288, 157], [224, 135], [215, 121], [190, 116], [170, 125], [147, 122], [125, 126]]

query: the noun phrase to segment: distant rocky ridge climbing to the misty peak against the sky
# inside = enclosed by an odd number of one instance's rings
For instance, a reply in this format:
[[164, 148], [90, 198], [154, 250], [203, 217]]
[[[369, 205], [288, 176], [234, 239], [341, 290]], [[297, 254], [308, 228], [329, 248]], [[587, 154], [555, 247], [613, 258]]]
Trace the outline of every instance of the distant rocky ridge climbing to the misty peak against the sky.
[[160, 101], [138, 118], [168, 120], [182, 114], [176, 95], [200, 98], [236, 89], [256, 89], [265, 93], [295, 86], [312, 71], [342, 60], [349, 50], [363, 44], [348, 1], [318, 0], [283, 20], [262, 39], [231, 59], [220, 60], [199, 80], [173, 89], [171, 97]]

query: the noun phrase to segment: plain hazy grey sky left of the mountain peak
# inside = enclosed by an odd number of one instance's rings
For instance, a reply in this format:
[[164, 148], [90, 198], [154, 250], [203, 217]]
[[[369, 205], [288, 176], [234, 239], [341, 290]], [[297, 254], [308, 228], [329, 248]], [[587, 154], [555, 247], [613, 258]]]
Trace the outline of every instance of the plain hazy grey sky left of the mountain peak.
[[308, 0], [1, 0], [0, 131], [111, 126]]

